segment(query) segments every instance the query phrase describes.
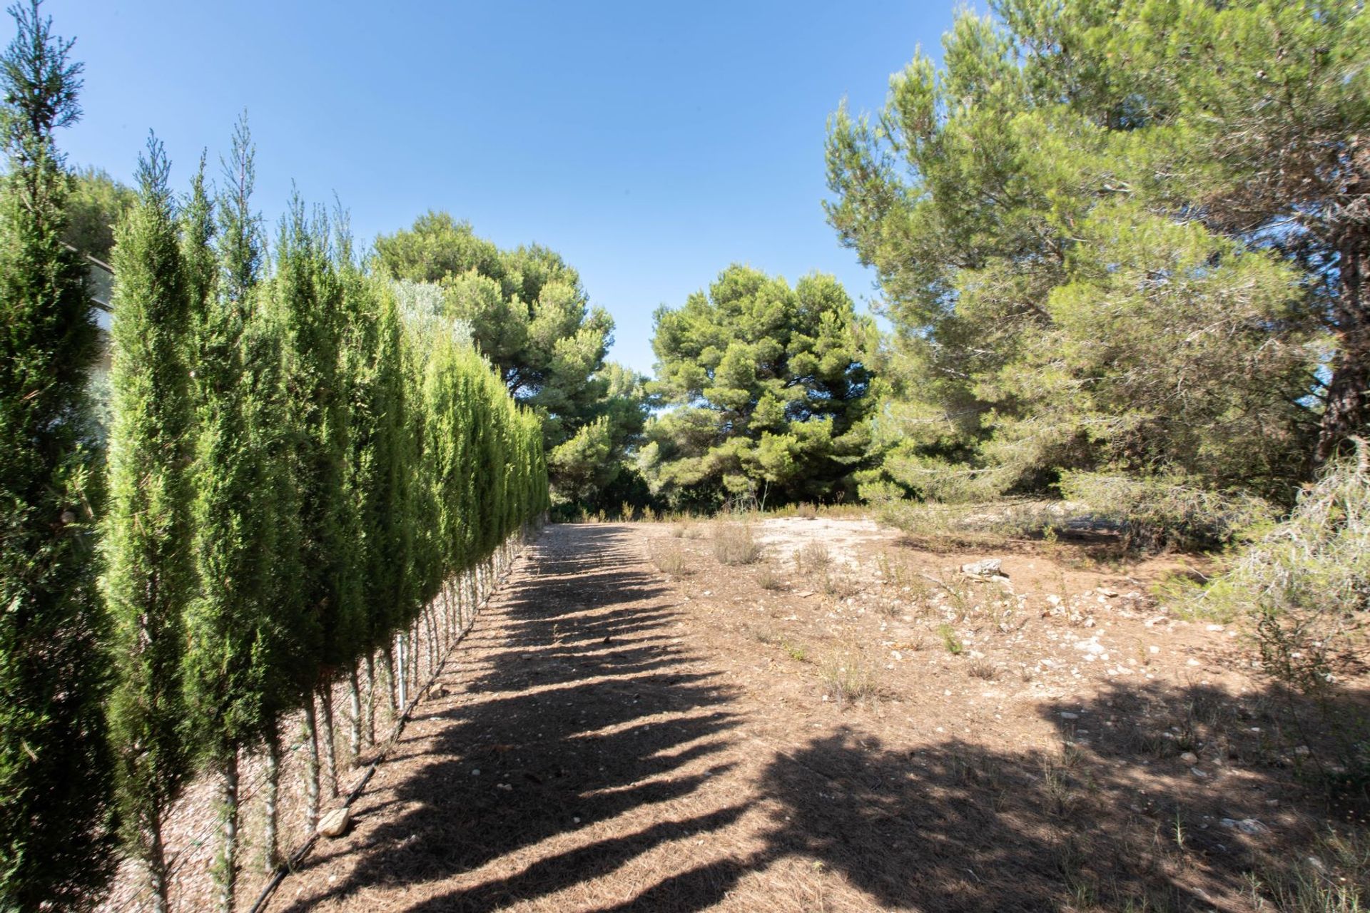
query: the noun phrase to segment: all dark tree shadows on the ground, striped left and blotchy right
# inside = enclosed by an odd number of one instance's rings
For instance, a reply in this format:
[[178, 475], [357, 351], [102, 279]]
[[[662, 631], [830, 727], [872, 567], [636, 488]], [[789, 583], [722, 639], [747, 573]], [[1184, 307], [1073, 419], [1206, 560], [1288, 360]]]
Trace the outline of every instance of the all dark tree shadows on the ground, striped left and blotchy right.
[[[290, 909], [367, 884], [438, 883], [686, 797], [723, 772], [721, 758], [707, 772], [681, 768], [736, 742], [734, 693], [673, 643], [677, 609], [627, 608], [664, 594], [623, 561], [612, 527], [570, 530], [560, 535], [574, 537], [578, 557], [544, 560], [541, 576], [511, 594], [507, 631], [470, 686], [484, 699], [447, 712], [441, 760], [397, 790], [406, 810], [349, 850], [360, 860], [345, 880]], [[593, 605], [584, 602], [586, 579]], [[1366, 715], [1363, 704], [1347, 706]], [[662, 721], [664, 713], [678, 716]], [[1248, 909], [1247, 873], [1262, 853], [1293, 853], [1307, 821], [1341, 813], [1307, 783], [1318, 773], [1311, 760], [1330, 751], [1296, 724], [1314, 719], [1310, 708], [1275, 690], [1234, 699], [1208, 686], [1117, 683], [1085, 705], [1044, 704], [1041, 713], [1056, 738], [1017, 750], [958, 739], [906, 750], [855, 727], [773, 746], [744, 801], [552, 851], [410, 909], [485, 912], [549, 898], [762, 808], [769, 821], [751, 842], [759, 849], [662, 877], [601, 910], [708, 909], [786, 860], [838, 875], [870, 908], [1238, 910]], [[1306, 754], [1295, 750], [1304, 745]]]

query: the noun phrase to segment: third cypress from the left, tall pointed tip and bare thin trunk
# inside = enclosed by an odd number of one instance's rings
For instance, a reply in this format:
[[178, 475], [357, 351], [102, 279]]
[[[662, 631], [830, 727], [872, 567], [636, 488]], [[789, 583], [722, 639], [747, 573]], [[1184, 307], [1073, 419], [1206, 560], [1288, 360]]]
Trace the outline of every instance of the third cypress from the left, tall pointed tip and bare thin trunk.
[[215, 222], [201, 170], [182, 230], [197, 327], [195, 538], [201, 582], [186, 624], [185, 687], [188, 741], [219, 779], [215, 876], [219, 908], [232, 910], [238, 750], [275, 739], [277, 719], [289, 705], [284, 669], [293, 631], [278, 606], [277, 563], [290, 531], [282, 526], [289, 502], [279, 497], [279, 345], [258, 301], [263, 257], [249, 208], [245, 125], [234, 134], [225, 179]]

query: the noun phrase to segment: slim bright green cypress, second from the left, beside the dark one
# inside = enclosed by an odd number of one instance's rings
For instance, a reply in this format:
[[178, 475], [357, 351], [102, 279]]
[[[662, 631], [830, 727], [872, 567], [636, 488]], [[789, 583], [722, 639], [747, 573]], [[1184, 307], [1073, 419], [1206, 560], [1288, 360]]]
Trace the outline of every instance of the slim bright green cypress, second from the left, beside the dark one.
[[162, 825], [185, 779], [181, 656], [195, 593], [186, 289], [162, 144], [138, 163], [138, 203], [114, 250], [114, 426], [105, 600], [115, 626], [110, 728], [126, 842], [166, 905]]

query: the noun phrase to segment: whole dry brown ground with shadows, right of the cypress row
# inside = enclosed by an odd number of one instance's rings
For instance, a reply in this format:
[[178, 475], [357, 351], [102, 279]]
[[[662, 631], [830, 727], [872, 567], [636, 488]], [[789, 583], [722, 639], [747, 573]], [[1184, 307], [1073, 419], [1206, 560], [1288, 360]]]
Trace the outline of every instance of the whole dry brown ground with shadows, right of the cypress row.
[[1249, 910], [1347, 813], [1163, 561], [752, 531], [549, 527], [270, 909]]

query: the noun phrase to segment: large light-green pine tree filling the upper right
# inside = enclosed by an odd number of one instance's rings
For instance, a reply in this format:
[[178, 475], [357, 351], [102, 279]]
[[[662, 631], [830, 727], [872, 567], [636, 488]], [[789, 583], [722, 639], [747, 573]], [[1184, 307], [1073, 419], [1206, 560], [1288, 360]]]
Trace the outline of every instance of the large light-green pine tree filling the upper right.
[[1367, 420], [1362, 4], [991, 5], [829, 125], [893, 323], [867, 494], [1286, 509]]

